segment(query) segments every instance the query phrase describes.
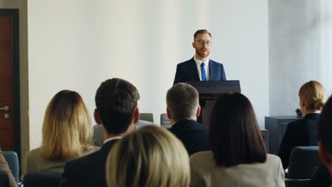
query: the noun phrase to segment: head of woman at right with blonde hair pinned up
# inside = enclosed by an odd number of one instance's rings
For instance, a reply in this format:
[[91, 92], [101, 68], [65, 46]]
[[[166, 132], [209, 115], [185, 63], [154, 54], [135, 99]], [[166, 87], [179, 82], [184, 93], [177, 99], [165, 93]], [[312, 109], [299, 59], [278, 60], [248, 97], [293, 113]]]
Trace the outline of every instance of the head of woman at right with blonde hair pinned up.
[[306, 108], [321, 111], [325, 102], [323, 85], [318, 81], [309, 81], [299, 89], [299, 96], [306, 101]]

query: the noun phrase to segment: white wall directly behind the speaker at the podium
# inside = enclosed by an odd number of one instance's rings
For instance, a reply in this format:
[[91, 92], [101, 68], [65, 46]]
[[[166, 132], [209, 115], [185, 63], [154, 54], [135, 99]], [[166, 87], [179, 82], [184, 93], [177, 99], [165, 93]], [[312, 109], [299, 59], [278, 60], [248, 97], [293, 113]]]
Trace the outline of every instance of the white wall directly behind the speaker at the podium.
[[265, 0], [29, 0], [31, 148], [41, 142], [45, 107], [61, 89], [82, 95], [90, 112], [105, 79], [131, 81], [141, 112], [165, 113], [177, 63], [194, 55], [192, 35], [212, 33], [211, 59], [240, 79], [258, 120], [269, 114]]

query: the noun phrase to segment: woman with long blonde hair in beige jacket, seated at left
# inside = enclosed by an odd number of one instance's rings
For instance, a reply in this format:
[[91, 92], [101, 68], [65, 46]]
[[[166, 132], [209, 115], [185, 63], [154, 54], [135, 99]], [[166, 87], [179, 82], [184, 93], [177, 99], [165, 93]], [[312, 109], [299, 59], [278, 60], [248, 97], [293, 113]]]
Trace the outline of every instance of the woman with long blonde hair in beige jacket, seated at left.
[[27, 154], [26, 172], [62, 172], [65, 162], [96, 152], [91, 145], [92, 124], [84, 102], [75, 91], [58, 92], [48, 103], [41, 147]]

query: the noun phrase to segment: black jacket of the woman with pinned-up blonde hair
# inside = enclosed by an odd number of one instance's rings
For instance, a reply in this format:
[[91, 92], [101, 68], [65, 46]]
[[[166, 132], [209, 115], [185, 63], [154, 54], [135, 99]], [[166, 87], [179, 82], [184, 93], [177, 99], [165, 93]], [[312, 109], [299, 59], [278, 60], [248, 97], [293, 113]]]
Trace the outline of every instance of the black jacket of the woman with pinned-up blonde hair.
[[287, 125], [278, 152], [284, 169], [288, 167], [289, 156], [294, 147], [318, 145], [318, 119], [319, 113], [309, 113], [303, 119]]

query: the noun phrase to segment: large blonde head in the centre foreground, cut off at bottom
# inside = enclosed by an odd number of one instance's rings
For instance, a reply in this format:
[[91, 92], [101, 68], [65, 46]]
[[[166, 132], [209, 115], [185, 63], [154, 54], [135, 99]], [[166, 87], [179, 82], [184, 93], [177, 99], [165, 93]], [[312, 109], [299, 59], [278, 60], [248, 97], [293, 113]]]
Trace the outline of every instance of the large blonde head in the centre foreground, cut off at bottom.
[[109, 187], [189, 186], [189, 157], [171, 132], [147, 125], [118, 140], [106, 164]]

